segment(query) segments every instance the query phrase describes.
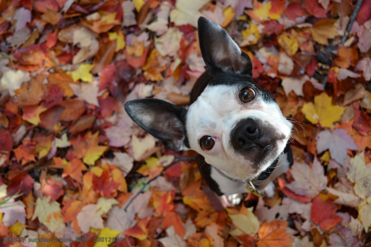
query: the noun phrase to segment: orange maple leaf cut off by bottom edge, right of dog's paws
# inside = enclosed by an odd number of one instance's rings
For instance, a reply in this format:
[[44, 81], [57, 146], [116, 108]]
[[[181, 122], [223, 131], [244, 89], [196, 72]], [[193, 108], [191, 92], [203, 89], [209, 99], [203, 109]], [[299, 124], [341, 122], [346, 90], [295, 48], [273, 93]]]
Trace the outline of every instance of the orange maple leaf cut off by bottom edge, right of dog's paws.
[[286, 247], [291, 246], [290, 234], [286, 233], [287, 221], [274, 220], [264, 222], [258, 231], [257, 247]]

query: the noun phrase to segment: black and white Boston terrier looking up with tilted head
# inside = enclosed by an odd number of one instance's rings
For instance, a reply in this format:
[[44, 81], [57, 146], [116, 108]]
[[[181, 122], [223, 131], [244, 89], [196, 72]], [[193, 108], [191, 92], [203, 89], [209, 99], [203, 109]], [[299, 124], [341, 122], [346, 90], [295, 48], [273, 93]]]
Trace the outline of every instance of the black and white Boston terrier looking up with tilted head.
[[292, 124], [267, 89], [252, 79], [252, 62], [227, 32], [198, 19], [208, 70], [200, 76], [186, 110], [158, 99], [131, 100], [131, 119], [170, 150], [197, 151], [198, 167], [218, 196], [253, 192], [271, 197], [273, 180], [293, 163]]

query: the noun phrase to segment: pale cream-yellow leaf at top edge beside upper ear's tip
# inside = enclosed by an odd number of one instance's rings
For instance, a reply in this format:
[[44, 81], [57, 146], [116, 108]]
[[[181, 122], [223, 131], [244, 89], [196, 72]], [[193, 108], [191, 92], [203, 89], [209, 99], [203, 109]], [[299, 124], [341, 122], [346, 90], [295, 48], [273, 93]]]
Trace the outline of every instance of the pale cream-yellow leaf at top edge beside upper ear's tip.
[[175, 26], [191, 24], [197, 27], [198, 17], [201, 16], [198, 10], [208, 2], [209, 0], [199, 0], [189, 4], [187, 0], [177, 0], [175, 9], [170, 11], [170, 21], [174, 22]]

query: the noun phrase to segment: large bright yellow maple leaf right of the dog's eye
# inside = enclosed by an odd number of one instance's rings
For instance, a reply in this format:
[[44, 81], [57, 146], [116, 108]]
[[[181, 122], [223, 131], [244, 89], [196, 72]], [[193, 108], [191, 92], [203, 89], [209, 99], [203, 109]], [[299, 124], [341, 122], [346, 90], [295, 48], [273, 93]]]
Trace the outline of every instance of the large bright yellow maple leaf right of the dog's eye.
[[346, 107], [331, 104], [332, 97], [325, 92], [314, 97], [312, 102], [304, 103], [301, 112], [312, 124], [321, 124], [323, 127], [332, 128], [332, 124], [339, 121]]

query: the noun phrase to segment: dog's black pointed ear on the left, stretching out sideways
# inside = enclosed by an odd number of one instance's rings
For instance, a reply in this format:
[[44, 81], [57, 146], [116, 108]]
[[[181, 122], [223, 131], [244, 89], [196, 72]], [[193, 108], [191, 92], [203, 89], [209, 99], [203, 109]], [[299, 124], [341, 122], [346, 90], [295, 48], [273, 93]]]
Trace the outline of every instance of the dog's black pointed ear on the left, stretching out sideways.
[[170, 150], [182, 150], [187, 144], [185, 121], [187, 110], [164, 100], [139, 99], [125, 104], [131, 119]]

